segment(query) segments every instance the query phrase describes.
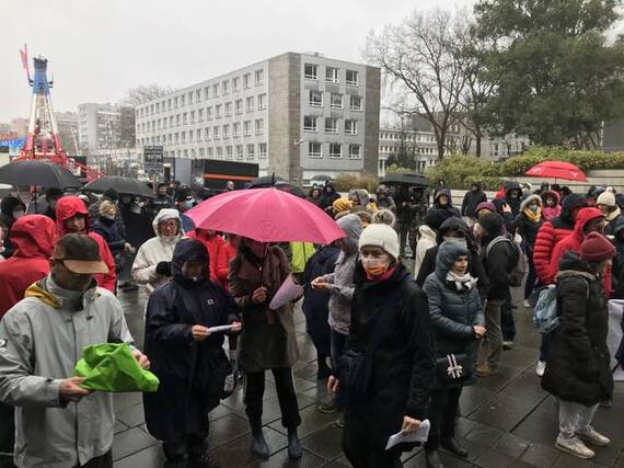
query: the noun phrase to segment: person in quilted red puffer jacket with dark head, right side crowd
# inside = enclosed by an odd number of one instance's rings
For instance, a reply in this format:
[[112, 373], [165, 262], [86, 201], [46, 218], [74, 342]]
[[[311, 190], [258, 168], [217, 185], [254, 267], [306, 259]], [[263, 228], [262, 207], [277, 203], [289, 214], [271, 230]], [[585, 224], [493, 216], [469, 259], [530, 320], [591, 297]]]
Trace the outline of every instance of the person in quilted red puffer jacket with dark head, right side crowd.
[[564, 199], [562, 214], [546, 221], [538, 231], [533, 247], [533, 264], [540, 282], [544, 285], [555, 282], [554, 275], [548, 274], [553, 250], [557, 242], [568, 237], [574, 229], [574, 210], [587, 206], [582, 195], [573, 193]]

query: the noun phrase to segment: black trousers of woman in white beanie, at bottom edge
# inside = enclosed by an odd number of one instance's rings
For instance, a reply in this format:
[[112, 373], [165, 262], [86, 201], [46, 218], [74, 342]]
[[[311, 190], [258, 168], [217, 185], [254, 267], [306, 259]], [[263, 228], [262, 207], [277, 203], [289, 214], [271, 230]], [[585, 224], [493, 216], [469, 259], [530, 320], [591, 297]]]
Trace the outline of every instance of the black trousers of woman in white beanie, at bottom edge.
[[[398, 429], [397, 429], [398, 431]], [[371, 441], [363, 424], [357, 420], [345, 421], [343, 452], [354, 468], [401, 468], [401, 450], [396, 447], [384, 450]]]

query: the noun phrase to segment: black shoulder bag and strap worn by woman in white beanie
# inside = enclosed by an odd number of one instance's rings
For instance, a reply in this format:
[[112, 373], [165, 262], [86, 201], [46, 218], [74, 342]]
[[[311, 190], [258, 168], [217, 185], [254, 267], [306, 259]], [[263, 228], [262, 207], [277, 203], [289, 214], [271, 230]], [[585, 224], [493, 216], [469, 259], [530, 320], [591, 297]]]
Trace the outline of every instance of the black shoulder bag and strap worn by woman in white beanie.
[[372, 376], [372, 356], [385, 333], [390, 316], [396, 309], [402, 289], [401, 284], [392, 293], [386, 307], [380, 312], [378, 319], [369, 324], [373, 331], [367, 349], [365, 351], [346, 350], [340, 357], [339, 378], [347, 406], [362, 401], [368, 393]]

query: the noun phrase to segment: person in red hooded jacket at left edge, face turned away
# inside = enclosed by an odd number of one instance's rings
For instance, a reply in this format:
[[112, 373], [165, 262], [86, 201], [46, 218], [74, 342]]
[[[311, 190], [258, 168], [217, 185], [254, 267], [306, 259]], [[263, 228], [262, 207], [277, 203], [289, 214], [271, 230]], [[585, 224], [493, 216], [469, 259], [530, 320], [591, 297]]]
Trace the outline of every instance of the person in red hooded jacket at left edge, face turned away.
[[33, 283], [49, 273], [55, 224], [44, 215], [26, 215], [11, 228], [13, 256], [0, 263], [0, 318], [24, 298]]

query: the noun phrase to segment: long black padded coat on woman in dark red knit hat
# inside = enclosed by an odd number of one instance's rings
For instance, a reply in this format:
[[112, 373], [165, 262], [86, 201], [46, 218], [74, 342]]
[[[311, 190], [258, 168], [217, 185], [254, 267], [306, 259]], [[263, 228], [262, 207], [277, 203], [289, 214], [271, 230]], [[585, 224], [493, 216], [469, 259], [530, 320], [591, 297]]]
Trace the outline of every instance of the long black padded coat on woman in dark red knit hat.
[[565, 401], [593, 406], [613, 395], [606, 334], [609, 312], [602, 279], [568, 252], [557, 275], [559, 326], [542, 387]]

